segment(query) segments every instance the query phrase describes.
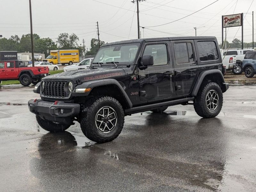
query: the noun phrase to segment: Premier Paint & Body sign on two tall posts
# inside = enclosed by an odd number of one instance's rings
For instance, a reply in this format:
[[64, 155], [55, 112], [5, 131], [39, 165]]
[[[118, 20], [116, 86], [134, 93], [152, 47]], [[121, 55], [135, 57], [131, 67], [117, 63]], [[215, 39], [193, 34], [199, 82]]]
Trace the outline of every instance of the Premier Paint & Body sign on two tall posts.
[[[240, 27], [242, 26], [242, 49], [244, 49], [244, 14], [233, 14], [233, 15], [222, 15], [222, 47], [224, 44], [223, 38], [223, 29], [227, 29], [227, 27]], [[226, 38], [225, 38], [226, 39]]]

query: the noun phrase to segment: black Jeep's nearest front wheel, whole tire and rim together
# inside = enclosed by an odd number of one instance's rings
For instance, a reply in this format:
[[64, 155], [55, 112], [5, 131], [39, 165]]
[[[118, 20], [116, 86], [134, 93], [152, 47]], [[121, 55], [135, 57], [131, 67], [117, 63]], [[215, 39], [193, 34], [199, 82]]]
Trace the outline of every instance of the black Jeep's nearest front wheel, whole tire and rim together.
[[116, 139], [124, 126], [124, 110], [112, 97], [92, 99], [80, 116], [80, 126], [84, 135], [97, 143]]

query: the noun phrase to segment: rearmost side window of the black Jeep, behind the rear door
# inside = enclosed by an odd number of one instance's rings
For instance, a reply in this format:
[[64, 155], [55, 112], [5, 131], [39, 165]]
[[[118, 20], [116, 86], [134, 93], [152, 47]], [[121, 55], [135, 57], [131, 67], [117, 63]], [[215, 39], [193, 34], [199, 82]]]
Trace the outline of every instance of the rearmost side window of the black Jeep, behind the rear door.
[[217, 60], [219, 58], [214, 41], [198, 41], [197, 46], [200, 61]]

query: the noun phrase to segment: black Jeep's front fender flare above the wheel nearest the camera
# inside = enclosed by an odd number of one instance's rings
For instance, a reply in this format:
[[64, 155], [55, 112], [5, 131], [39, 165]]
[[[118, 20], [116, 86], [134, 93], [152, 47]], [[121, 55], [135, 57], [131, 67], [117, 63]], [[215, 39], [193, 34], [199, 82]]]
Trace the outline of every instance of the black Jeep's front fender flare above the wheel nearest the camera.
[[[122, 92], [124, 95], [125, 100], [127, 101], [130, 108], [132, 108], [132, 101], [128, 97], [127, 93], [124, 91], [124, 88], [121, 86], [120, 83], [116, 79], [99, 79], [99, 80], [93, 80], [93, 81], [87, 81], [80, 85], [77, 85], [72, 93], [73, 96], [87, 96], [89, 93], [93, 90], [93, 88], [103, 86], [103, 85], [116, 85], [117, 88]], [[90, 92], [85, 93], [76, 93], [76, 89], [83, 89], [83, 88], [91, 88], [92, 90]]]

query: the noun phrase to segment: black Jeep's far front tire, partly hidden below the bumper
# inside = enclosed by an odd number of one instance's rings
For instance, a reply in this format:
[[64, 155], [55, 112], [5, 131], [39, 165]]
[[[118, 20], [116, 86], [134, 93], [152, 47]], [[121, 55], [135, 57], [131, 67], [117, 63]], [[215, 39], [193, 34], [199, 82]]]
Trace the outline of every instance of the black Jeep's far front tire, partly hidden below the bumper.
[[63, 132], [70, 127], [70, 125], [57, 124], [51, 121], [46, 121], [42, 119], [39, 115], [36, 115], [36, 121], [44, 130], [54, 133]]

